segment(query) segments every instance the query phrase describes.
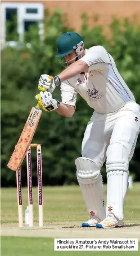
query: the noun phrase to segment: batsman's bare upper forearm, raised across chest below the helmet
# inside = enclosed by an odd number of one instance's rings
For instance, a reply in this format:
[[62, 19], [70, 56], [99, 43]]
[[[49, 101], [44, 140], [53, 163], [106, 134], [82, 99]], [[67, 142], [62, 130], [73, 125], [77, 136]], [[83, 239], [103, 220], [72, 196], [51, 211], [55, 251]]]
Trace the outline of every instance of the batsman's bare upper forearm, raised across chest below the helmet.
[[71, 77], [74, 77], [81, 72], [88, 69], [87, 63], [85, 63], [83, 60], [78, 60], [77, 62], [74, 62], [69, 67], [67, 67], [64, 71], [62, 71], [58, 77], [60, 78], [60, 81], [63, 82], [67, 79], [70, 79]]

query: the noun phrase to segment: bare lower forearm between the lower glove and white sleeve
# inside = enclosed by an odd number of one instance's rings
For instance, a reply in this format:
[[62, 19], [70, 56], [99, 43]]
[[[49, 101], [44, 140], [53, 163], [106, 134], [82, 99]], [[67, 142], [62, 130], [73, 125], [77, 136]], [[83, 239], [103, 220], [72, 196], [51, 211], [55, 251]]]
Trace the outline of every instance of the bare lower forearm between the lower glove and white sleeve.
[[58, 114], [66, 116], [66, 118], [71, 118], [75, 112], [75, 106], [60, 103], [60, 106], [56, 109], [56, 111]]

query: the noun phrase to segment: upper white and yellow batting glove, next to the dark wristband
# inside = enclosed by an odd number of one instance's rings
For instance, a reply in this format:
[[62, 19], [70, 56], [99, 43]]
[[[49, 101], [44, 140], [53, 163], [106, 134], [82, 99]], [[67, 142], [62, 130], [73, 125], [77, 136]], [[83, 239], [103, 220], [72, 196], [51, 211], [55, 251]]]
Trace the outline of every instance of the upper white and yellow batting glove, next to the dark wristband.
[[38, 84], [39, 90], [41, 90], [42, 92], [45, 92], [47, 90], [48, 92], [52, 93], [55, 88], [56, 85], [52, 76], [48, 76], [46, 74], [40, 76]]

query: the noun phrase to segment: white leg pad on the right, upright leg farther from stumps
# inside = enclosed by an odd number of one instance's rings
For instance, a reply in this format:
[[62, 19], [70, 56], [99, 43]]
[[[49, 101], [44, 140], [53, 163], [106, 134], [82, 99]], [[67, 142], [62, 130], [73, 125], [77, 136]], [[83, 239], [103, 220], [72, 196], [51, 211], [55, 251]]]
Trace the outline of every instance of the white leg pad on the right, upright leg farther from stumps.
[[107, 149], [107, 205], [106, 216], [112, 212], [123, 219], [123, 202], [128, 187], [128, 153], [120, 143], [112, 143]]

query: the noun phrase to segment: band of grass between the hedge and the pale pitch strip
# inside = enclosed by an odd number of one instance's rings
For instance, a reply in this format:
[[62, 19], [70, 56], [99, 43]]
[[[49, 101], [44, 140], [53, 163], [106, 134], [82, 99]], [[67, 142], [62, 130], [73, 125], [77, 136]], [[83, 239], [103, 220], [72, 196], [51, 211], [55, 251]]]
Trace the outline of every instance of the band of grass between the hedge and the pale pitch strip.
[[[106, 195], [106, 185], [105, 185]], [[128, 189], [124, 203], [124, 222], [140, 223], [140, 183]], [[106, 202], [106, 197], [105, 197]], [[27, 188], [22, 189], [23, 212], [28, 206]], [[38, 223], [38, 189], [33, 188], [34, 222]], [[44, 223], [83, 222], [88, 214], [79, 186], [51, 186], [43, 188]], [[1, 223], [17, 223], [17, 190], [1, 189]]]

